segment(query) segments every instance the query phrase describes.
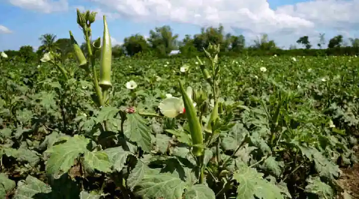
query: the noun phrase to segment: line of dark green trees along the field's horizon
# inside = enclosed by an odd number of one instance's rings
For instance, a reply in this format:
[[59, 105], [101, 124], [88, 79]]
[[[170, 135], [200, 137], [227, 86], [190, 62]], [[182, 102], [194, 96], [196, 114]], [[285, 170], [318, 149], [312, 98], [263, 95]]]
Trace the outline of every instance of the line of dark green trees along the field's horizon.
[[[219, 27], [202, 27], [200, 33], [195, 35], [185, 35], [179, 40], [179, 35], [174, 34], [170, 26], [165, 25], [156, 27], [150, 31], [148, 38], [144, 35], [134, 34], [126, 37], [122, 45], [113, 46], [113, 56], [134, 56], [134, 57], [194, 57], [202, 56], [203, 49], [209, 43], [220, 44], [220, 55], [226, 56], [264, 56], [264, 55], [292, 55], [292, 56], [325, 56], [325, 55], [357, 55], [359, 53], [359, 39], [349, 38], [349, 42], [344, 40], [343, 35], [337, 35], [329, 39], [328, 44], [325, 34], [320, 34], [319, 42], [312, 44], [309, 36], [298, 38], [295, 44], [289, 49], [283, 49], [270, 40], [268, 35], [263, 34], [254, 40], [253, 45], [246, 45], [243, 35], [233, 35], [225, 33], [222, 25]], [[4, 51], [11, 57], [21, 57], [25, 61], [38, 59], [45, 52], [55, 51], [61, 54], [63, 59], [73, 57], [70, 39], [56, 38], [54, 34], [43, 34], [39, 37], [41, 46], [35, 52], [32, 46], [21, 46], [19, 50]], [[313, 48], [316, 45], [318, 48]], [[297, 47], [299, 46], [299, 47]], [[85, 43], [81, 49], [86, 54]], [[177, 55], [170, 55], [173, 50], [179, 50]], [[97, 55], [99, 56], [99, 55]]]

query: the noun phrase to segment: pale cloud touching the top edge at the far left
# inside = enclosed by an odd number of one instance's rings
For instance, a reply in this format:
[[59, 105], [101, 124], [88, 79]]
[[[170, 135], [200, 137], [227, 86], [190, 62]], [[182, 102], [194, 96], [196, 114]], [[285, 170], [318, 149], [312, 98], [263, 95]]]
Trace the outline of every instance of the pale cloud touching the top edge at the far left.
[[9, 0], [12, 5], [51, 13], [56, 11], [66, 11], [68, 9], [67, 0]]

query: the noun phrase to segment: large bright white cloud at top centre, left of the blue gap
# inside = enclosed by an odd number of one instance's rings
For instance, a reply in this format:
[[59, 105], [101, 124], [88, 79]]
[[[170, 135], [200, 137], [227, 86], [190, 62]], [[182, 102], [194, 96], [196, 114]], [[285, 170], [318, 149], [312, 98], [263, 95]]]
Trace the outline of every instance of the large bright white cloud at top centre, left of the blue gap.
[[94, 0], [120, 15], [138, 20], [172, 20], [197, 25], [217, 25], [261, 33], [314, 27], [312, 21], [277, 13], [267, 0]]

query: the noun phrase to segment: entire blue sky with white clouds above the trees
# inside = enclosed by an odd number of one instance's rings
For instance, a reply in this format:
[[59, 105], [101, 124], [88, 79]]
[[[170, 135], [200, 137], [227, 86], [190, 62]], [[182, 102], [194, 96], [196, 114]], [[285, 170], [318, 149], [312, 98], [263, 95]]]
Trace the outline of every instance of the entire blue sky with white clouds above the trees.
[[69, 38], [69, 30], [82, 42], [76, 8], [98, 12], [93, 38], [102, 36], [106, 15], [113, 45], [158, 26], [170, 25], [181, 39], [220, 23], [227, 33], [243, 34], [247, 45], [263, 33], [283, 48], [303, 35], [313, 46], [320, 33], [327, 43], [338, 34], [359, 37], [359, 0], [0, 0], [0, 51], [36, 50], [42, 34]]

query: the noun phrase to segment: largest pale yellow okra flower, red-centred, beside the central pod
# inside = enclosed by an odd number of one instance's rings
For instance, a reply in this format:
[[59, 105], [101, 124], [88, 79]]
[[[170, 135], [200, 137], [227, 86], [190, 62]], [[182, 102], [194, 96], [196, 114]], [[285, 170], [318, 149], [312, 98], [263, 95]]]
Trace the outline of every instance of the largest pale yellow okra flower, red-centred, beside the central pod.
[[[187, 95], [192, 100], [192, 88], [187, 87]], [[160, 102], [159, 108], [163, 115], [170, 118], [175, 118], [179, 114], [185, 112], [184, 104], [182, 98], [173, 97], [171, 94], [166, 94], [166, 99]], [[196, 103], [193, 103], [195, 106]]]

